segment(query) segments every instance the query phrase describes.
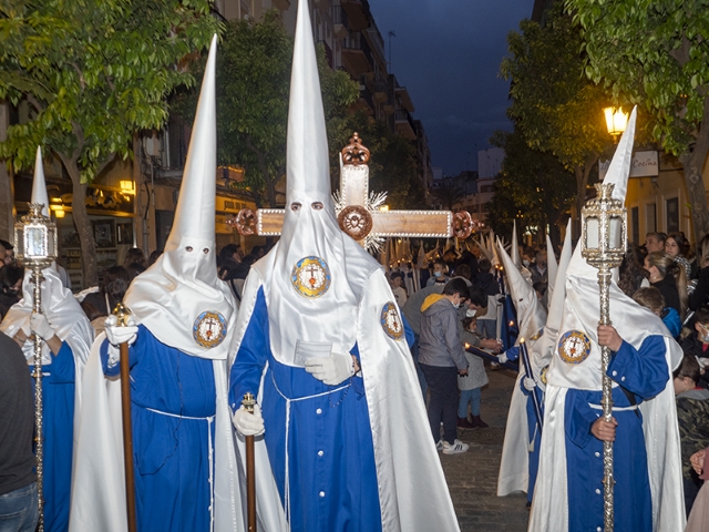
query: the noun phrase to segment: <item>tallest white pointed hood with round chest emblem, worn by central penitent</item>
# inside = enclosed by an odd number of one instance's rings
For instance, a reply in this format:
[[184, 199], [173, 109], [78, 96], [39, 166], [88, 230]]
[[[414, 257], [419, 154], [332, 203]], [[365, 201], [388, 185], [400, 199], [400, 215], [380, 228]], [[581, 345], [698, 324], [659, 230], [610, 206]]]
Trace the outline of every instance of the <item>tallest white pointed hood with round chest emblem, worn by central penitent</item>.
[[[308, 2], [298, 3], [286, 168], [286, 213], [280, 239], [254, 265], [261, 277], [276, 359], [297, 366], [296, 344], [327, 342], [349, 352], [357, 305], [380, 265], [340, 231], [330, 190], [325, 112]], [[300, 204], [299, 208], [294, 208]], [[320, 207], [320, 208], [314, 208]], [[297, 207], [297, 206], [296, 206]], [[328, 323], [322, 323], [322, 316]], [[289, 324], [284, 327], [284, 324]], [[290, 334], [284, 334], [287, 328]]]

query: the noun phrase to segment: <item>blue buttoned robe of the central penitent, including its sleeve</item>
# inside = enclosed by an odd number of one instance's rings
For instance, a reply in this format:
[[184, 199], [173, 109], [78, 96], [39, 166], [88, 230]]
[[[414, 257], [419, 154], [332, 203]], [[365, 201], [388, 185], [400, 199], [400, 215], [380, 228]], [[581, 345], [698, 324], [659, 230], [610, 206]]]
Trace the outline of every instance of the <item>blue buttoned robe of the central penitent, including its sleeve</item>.
[[[268, 331], [268, 310], [260, 288], [230, 370], [229, 405], [236, 410], [244, 393], [257, 395], [268, 362], [261, 412], [268, 457], [285, 508], [286, 400], [282, 396], [292, 399], [288, 429], [291, 530], [381, 530], [374, 450], [362, 379], [352, 377], [351, 385], [343, 390], [327, 393], [350, 381], [328, 386], [305, 369], [276, 361]], [[357, 346], [351, 352], [359, 356]], [[318, 393], [327, 395], [310, 397]]]

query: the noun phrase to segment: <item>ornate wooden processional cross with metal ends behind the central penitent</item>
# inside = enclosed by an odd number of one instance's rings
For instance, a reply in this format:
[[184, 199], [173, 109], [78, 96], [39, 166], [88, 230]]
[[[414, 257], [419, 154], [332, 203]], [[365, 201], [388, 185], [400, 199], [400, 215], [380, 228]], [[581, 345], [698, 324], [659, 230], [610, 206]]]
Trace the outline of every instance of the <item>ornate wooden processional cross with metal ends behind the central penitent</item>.
[[[386, 194], [369, 194], [369, 150], [354, 133], [341, 151], [340, 192], [335, 211], [340, 228], [367, 248], [386, 237], [466, 238], [476, 222], [466, 211], [380, 211]], [[284, 226], [281, 208], [244, 208], [234, 225], [242, 235], [278, 236]]]

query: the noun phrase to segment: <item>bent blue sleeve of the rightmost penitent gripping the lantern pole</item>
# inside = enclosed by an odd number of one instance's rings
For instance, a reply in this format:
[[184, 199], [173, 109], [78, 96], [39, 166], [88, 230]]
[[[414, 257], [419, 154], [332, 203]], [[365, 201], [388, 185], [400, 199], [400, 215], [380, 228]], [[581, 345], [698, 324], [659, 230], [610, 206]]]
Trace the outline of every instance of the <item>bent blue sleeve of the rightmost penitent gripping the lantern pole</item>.
[[646, 338], [639, 349], [624, 340], [606, 375], [640, 399], [651, 399], [669, 378], [665, 349], [665, 339], [658, 335]]

